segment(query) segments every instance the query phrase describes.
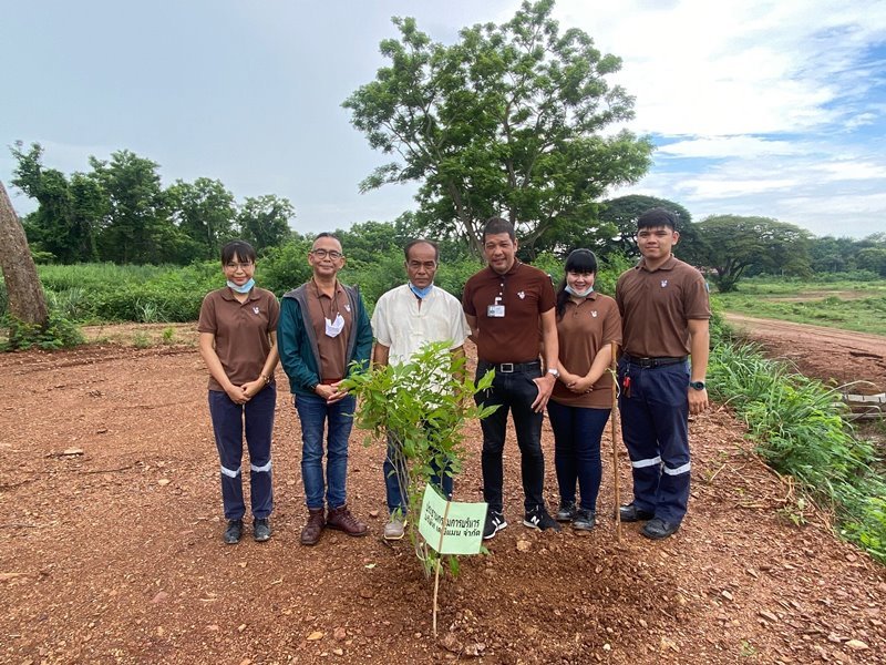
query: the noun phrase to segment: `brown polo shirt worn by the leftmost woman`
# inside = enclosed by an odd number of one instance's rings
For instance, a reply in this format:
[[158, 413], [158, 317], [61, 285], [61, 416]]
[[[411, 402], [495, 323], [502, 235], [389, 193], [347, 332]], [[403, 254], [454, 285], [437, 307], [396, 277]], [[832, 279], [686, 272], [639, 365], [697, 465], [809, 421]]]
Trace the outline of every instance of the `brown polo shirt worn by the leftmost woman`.
[[[265, 368], [270, 352], [268, 335], [277, 330], [279, 317], [280, 305], [269, 290], [253, 287], [240, 303], [226, 286], [203, 299], [197, 330], [215, 335], [215, 352], [225, 375], [235, 386], [243, 386], [255, 381]], [[209, 390], [224, 392], [212, 375]]]

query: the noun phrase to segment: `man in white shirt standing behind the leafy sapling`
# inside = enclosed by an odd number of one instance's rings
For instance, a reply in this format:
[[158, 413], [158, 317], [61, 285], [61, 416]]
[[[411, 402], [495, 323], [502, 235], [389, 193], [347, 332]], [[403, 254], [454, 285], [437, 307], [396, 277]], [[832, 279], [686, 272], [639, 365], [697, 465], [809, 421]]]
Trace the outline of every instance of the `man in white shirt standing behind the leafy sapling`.
[[[440, 287], [434, 276], [440, 260], [435, 243], [425, 239], [410, 242], [404, 249], [409, 282], [382, 294], [372, 314], [375, 335], [373, 361], [377, 365], [409, 362], [413, 354], [432, 341], [445, 341], [450, 352], [464, 356], [464, 340], [468, 336], [462, 305]], [[390, 520], [384, 528], [385, 540], [400, 540], [405, 528], [408, 499], [403, 497], [401, 478], [404, 477], [394, 441], [388, 437], [388, 453], [382, 467]], [[400, 467], [400, 468], [398, 468]], [[452, 477], [446, 469], [434, 469], [431, 479], [446, 498], [452, 497]]]

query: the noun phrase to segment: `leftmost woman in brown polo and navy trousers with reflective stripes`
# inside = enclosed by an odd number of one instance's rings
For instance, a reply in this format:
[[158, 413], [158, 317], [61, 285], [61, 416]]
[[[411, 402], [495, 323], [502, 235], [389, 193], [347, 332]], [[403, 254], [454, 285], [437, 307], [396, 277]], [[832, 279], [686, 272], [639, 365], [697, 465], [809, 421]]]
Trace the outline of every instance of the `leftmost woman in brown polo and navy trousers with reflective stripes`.
[[200, 356], [209, 369], [209, 417], [222, 462], [224, 541], [235, 544], [243, 535], [245, 423], [253, 536], [264, 542], [270, 538], [268, 518], [274, 510], [270, 441], [280, 306], [272, 293], [255, 286], [256, 252], [248, 243], [233, 241], [222, 247], [222, 270], [227, 286], [203, 299], [197, 330]]

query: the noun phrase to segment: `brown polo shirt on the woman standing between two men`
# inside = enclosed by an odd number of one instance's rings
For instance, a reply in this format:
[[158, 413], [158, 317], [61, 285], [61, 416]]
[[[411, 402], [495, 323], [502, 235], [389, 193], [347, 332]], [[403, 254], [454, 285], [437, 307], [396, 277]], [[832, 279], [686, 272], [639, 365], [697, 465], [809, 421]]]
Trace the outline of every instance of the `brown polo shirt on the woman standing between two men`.
[[[587, 375], [600, 349], [614, 341], [621, 344], [621, 316], [615, 299], [594, 293], [577, 305], [567, 300], [557, 321], [557, 339], [563, 367], [580, 377]], [[612, 375], [602, 372], [588, 393], [575, 393], [557, 379], [550, 399], [568, 407], [610, 409]]]

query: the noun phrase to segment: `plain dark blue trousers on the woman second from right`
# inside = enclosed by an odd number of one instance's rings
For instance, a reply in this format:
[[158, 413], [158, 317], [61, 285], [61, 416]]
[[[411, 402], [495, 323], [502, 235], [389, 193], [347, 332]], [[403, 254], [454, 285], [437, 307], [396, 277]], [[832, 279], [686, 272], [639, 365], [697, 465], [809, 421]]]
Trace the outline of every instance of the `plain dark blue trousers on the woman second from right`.
[[577, 481], [581, 508], [596, 511], [602, 478], [600, 438], [609, 420], [609, 409], [568, 407], [552, 400], [547, 402], [547, 415], [554, 430], [554, 467], [560, 503], [575, 502]]

